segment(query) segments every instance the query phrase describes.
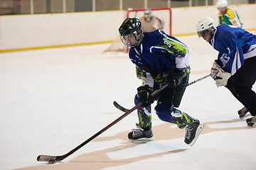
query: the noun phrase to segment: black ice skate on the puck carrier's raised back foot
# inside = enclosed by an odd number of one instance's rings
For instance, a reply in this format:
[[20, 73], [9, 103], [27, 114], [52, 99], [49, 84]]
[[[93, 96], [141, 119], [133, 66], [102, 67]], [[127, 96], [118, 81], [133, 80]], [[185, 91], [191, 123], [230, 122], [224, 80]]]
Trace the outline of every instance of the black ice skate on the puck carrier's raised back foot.
[[200, 123], [199, 120], [192, 120], [191, 124], [186, 126], [186, 136], [184, 142], [192, 147], [203, 130], [203, 126], [204, 123]]

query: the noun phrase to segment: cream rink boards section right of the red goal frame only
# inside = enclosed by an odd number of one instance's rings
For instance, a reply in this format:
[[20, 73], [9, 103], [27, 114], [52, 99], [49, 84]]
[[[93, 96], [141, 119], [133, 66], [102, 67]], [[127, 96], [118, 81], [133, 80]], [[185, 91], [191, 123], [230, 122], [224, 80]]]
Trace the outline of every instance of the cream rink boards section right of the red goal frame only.
[[[238, 12], [240, 21], [245, 24], [245, 29], [255, 30], [256, 21], [252, 18], [256, 15], [256, 4], [251, 5], [233, 5], [229, 8]], [[200, 18], [210, 16], [218, 25], [218, 9], [215, 6], [197, 6], [172, 9], [172, 34], [186, 35], [193, 34], [196, 31], [196, 23]]]

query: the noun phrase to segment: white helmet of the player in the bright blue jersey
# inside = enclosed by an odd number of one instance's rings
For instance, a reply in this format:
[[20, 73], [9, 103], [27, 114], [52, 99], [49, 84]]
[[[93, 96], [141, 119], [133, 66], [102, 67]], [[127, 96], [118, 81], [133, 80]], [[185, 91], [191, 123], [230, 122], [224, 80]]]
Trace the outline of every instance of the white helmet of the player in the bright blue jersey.
[[201, 18], [201, 20], [198, 21], [196, 25], [196, 32], [198, 33], [199, 38], [203, 35], [205, 30], [208, 30], [208, 32], [210, 32], [215, 29], [216, 27], [213, 18], [210, 17]]

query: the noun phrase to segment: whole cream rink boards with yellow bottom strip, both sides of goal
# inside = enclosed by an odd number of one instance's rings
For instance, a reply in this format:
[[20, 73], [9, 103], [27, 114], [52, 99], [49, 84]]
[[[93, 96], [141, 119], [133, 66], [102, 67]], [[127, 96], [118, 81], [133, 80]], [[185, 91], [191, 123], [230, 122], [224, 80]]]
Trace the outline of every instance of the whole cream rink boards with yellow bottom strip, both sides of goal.
[[[247, 30], [255, 30], [256, 4], [235, 5]], [[205, 16], [218, 23], [215, 6], [172, 8], [172, 35], [196, 33]], [[0, 16], [0, 52], [112, 42], [125, 11]]]

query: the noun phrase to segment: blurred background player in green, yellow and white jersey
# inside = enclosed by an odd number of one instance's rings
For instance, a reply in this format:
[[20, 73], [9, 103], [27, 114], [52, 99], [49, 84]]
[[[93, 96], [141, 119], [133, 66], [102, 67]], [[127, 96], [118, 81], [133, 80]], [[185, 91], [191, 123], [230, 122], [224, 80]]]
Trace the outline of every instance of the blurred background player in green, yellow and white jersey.
[[218, 18], [220, 25], [232, 25], [237, 26], [238, 28], [244, 29], [245, 26], [240, 22], [238, 13], [231, 8], [228, 8], [228, 1], [227, 0], [218, 0], [216, 4], [218, 8]]

